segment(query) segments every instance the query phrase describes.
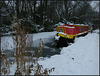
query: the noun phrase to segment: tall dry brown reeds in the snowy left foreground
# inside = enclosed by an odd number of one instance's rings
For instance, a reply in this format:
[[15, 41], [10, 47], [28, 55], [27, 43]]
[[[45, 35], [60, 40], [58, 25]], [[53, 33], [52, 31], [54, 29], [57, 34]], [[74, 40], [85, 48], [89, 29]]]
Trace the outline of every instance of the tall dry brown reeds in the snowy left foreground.
[[[15, 48], [14, 51], [16, 54], [15, 63], [17, 64], [16, 72], [14, 75], [30, 75], [31, 73], [33, 73], [34, 75], [48, 75], [53, 72], [55, 69], [54, 67], [48, 70], [47, 68], [44, 69], [43, 66], [38, 63], [38, 59], [41, 56], [44, 47], [42, 39], [40, 39], [38, 49], [36, 49], [34, 52], [31, 48], [33, 46], [33, 36], [28, 34], [29, 30], [27, 30], [23, 26], [25, 24], [21, 23], [16, 17], [14, 17], [12, 25], [16, 26], [12, 28], [13, 31], [15, 31], [15, 36], [12, 36], [12, 38]], [[27, 47], [29, 49], [27, 49]], [[28, 56], [29, 52], [32, 54], [31, 56]], [[34, 55], [36, 55], [37, 57], [34, 58]], [[7, 61], [6, 55], [5, 57], [3, 57], [2, 54], [1, 58], [2, 64], [6, 64], [5, 67], [3, 67], [4, 65], [2, 65], [2, 73], [4, 75], [8, 75], [10, 73], [9, 66], [13, 65], [14, 63], [11, 63], [9, 65], [9, 61]], [[8, 68], [9, 71], [5, 70], [6, 68]]]

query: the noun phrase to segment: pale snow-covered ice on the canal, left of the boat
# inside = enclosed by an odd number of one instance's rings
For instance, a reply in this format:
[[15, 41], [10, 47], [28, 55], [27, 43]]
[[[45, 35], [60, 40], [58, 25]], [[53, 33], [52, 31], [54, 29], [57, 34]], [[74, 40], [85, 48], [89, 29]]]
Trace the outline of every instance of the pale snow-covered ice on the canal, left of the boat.
[[[54, 37], [56, 33], [57, 33], [56, 31], [42, 32], [42, 33], [29, 34], [29, 36], [33, 36], [33, 41], [36, 41], [36, 40], [39, 40], [40, 38], [42, 38], [42, 40], [44, 42], [47, 42], [48, 39], [46, 39], [46, 38]], [[1, 37], [1, 49], [2, 50], [8, 50], [8, 49], [11, 50], [13, 48], [14, 48], [14, 44], [13, 44], [12, 36]]]

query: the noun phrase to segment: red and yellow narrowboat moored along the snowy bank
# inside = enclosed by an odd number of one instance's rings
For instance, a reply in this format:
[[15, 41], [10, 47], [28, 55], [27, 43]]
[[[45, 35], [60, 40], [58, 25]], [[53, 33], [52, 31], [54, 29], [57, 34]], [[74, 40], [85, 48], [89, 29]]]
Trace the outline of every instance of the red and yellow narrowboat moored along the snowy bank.
[[55, 41], [57, 45], [73, 42], [76, 36], [86, 35], [90, 26], [83, 24], [65, 24], [57, 27]]

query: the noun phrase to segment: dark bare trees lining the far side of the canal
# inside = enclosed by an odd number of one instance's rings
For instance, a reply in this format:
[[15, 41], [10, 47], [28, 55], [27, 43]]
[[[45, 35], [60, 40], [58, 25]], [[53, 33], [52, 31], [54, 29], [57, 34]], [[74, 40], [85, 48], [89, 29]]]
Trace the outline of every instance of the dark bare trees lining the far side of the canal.
[[[58, 22], [74, 22], [81, 24], [92, 23], [99, 17], [90, 5], [91, 1], [70, 0], [1, 0], [1, 25], [11, 26], [16, 14], [21, 21], [25, 21], [31, 32], [53, 31], [53, 25]], [[37, 26], [38, 25], [38, 26]]]

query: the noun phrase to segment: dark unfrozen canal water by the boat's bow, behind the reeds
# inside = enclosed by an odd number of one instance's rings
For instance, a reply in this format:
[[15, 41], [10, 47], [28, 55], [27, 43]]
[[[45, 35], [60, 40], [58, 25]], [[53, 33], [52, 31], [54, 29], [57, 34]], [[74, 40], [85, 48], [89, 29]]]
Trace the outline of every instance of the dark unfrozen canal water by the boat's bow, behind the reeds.
[[[39, 40], [36, 40], [34, 42], [34, 45], [37, 45], [39, 42]], [[29, 49], [30, 47], [27, 47], [27, 49]], [[31, 47], [31, 49], [33, 50], [33, 52], [36, 51], [36, 49], [38, 49], [37, 46], [33, 46]], [[54, 38], [46, 38], [44, 39], [44, 48], [42, 50], [42, 54], [40, 55], [40, 57], [51, 57], [53, 55], [56, 54], [60, 54], [60, 49], [55, 47], [55, 43], [54, 43]], [[9, 62], [13, 62], [14, 58], [15, 58], [15, 51], [14, 49], [12, 50], [5, 50], [5, 53], [7, 53], [7, 57], [9, 59]], [[27, 56], [32, 56], [31, 52], [27, 53]], [[34, 55], [36, 57], [36, 55]]]

